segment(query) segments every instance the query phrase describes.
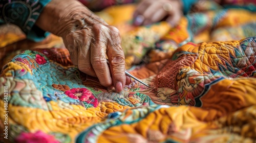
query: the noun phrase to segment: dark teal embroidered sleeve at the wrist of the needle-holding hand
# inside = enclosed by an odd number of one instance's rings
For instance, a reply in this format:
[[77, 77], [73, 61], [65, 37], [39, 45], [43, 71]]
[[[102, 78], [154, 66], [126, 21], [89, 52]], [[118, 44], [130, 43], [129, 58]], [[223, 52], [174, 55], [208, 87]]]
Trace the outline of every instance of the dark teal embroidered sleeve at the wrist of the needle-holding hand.
[[42, 9], [51, 0], [0, 0], [0, 24], [17, 25], [33, 41], [43, 40], [49, 33], [35, 26]]

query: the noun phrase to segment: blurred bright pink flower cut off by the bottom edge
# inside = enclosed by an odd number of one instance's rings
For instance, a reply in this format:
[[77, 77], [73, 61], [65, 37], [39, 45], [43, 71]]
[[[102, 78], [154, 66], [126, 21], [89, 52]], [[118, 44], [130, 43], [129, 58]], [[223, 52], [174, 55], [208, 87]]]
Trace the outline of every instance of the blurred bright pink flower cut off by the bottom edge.
[[37, 142], [45, 142], [45, 143], [58, 143], [59, 141], [55, 139], [54, 136], [48, 135], [42, 131], [37, 131], [35, 133], [21, 133], [15, 139], [15, 142], [29, 142], [29, 143], [37, 143]]

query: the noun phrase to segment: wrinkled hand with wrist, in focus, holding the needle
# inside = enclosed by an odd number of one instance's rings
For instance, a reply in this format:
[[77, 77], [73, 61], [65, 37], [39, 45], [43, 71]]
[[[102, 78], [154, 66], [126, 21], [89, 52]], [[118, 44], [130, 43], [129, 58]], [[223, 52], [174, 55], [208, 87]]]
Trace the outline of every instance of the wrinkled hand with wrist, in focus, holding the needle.
[[44, 8], [36, 25], [61, 36], [73, 64], [83, 73], [98, 77], [101, 85], [114, 86], [119, 92], [130, 83], [124, 73], [119, 31], [78, 1], [53, 0]]

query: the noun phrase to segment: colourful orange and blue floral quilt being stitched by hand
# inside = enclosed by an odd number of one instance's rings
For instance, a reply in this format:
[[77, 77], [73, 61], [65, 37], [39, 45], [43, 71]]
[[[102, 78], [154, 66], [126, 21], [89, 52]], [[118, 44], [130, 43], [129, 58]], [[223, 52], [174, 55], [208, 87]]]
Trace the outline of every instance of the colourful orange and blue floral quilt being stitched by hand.
[[[108, 21], [111, 11], [121, 15], [119, 8], [98, 14]], [[255, 16], [241, 9], [194, 13], [175, 28], [165, 22], [135, 28], [129, 16], [112, 20], [127, 69], [151, 88], [134, 80], [121, 92], [102, 87], [72, 65], [60, 42], [23, 51], [0, 77], [8, 139], [255, 142]]]

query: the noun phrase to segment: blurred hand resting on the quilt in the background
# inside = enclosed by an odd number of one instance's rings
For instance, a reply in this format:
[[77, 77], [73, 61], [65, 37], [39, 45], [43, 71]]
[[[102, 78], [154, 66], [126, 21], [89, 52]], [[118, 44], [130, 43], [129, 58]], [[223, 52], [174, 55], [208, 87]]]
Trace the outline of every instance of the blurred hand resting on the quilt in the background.
[[166, 20], [175, 26], [183, 15], [180, 0], [143, 0], [134, 12], [134, 25], [151, 25]]

